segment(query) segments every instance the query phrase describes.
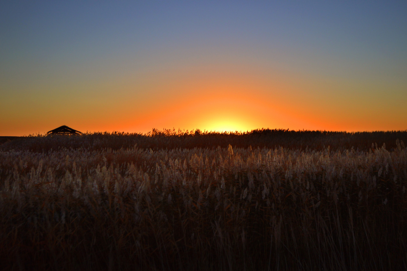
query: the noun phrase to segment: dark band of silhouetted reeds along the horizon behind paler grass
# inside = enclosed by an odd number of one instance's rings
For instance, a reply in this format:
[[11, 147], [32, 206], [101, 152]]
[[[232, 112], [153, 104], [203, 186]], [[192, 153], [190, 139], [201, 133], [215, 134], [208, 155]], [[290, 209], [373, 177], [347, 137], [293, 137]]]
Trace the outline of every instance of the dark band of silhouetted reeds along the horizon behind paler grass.
[[100, 150], [110, 148], [176, 149], [221, 148], [229, 144], [237, 148], [289, 148], [305, 150], [366, 150], [385, 144], [388, 150], [396, 148], [396, 140], [406, 142], [407, 131], [328, 132], [310, 130], [256, 129], [250, 132], [208, 132], [197, 130], [153, 129], [147, 134], [124, 132], [97, 132], [75, 136], [48, 135], [14, 139], [0, 145], [0, 150], [30, 150], [48, 152], [60, 148]]

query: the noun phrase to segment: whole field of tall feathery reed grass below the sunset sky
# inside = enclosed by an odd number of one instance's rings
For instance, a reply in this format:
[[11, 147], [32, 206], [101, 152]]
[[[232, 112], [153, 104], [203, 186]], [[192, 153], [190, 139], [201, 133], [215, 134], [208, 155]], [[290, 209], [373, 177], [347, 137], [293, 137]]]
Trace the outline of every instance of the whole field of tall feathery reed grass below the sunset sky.
[[407, 270], [407, 131], [0, 145], [3, 270]]

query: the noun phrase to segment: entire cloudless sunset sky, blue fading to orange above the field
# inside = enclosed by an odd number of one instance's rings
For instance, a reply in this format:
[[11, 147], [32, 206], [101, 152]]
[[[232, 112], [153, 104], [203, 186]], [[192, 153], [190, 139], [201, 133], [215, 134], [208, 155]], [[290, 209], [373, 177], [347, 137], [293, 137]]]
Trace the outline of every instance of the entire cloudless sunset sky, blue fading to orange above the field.
[[0, 136], [407, 130], [407, 1], [2, 1]]

